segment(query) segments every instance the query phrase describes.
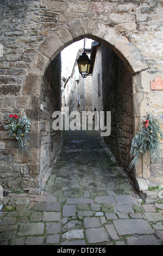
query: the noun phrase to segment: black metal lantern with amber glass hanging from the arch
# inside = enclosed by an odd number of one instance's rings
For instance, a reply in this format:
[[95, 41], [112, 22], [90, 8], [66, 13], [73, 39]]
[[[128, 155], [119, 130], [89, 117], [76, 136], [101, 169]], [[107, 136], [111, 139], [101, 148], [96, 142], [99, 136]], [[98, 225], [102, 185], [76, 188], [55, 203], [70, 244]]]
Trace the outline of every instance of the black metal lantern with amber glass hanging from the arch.
[[90, 59], [85, 52], [85, 38], [84, 38], [83, 53], [82, 55], [80, 55], [79, 59], [77, 60], [77, 63], [78, 63], [79, 73], [82, 75], [83, 78], [85, 78], [89, 74], [90, 66], [91, 66]]

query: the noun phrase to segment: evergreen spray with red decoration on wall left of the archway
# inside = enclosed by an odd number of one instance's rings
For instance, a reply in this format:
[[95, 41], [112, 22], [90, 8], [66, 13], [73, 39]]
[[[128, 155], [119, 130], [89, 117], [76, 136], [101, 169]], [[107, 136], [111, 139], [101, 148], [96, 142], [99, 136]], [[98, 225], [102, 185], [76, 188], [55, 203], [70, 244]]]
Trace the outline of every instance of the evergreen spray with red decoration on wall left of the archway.
[[24, 154], [29, 155], [29, 137], [30, 120], [24, 113], [18, 115], [10, 114], [8, 118], [9, 124], [5, 126], [5, 130], [8, 130], [11, 137], [17, 139], [18, 149], [21, 151], [22, 156]]

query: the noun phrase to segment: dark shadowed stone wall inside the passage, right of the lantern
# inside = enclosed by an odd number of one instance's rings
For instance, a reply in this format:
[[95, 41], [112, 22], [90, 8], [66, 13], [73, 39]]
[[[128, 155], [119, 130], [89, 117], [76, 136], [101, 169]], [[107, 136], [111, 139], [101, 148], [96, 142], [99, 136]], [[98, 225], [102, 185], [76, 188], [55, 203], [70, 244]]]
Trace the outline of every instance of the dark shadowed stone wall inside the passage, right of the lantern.
[[111, 134], [106, 143], [126, 170], [133, 139], [132, 76], [122, 60], [102, 45], [103, 110], [111, 111]]

